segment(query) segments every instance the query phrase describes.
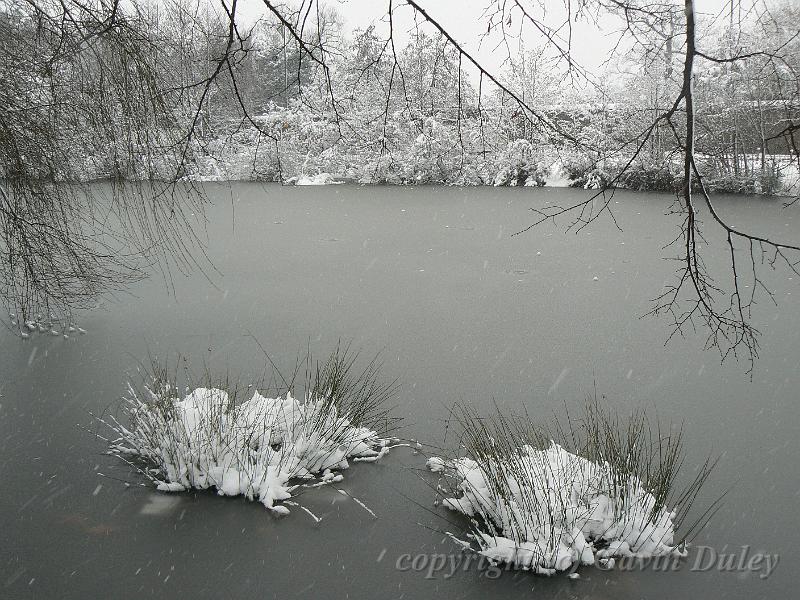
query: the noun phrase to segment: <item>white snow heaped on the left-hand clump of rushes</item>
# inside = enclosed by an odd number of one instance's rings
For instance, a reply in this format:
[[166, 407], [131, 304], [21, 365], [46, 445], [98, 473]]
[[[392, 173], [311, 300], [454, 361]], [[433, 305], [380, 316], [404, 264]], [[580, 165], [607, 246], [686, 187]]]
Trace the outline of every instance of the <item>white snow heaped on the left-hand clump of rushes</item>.
[[134, 425], [108, 423], [119, 435], [111, 453], [155, 467], [140, 472], [164, 492], [213, 487], [282, 515], [289, 509], [281, 503], [303, 482], [341, 481], [334, 471], [348, 468], [348, 459], [374, 461], [388, 452], [388, 440], [352, 425], [324, 398], [256, 391], [234, 405], [219, 389], [197, 388], [183, 399], [129, 392], [124, 409]]

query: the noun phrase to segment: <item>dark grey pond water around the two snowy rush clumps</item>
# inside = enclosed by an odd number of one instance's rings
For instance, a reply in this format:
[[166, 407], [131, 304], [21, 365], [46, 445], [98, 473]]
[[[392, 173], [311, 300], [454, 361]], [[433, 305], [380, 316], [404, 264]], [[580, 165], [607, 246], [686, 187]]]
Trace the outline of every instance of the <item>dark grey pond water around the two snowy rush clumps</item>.
[[[703, 352], [702, 336], [664, 347], [667, 323], [639, 318], [673, 277], [661, 250], [677, 232], [677, 219], [663, 216], [668, 196], [619, 194], [623, 231], [603, 220], [578, 235], [548, 226], [511, 237], [530, 222], [529, 207], [585, 192], [237, 184], [209, 193], [216, 288], [177, 277], [173, 297], [153, 279], [82, 315], [86, 336], [0, 333], [0, 597], [793, 595], [800, 287], [790, 274], [768, 278], [780, 307], [764, 301], [756, 311], [763, 348], [750, 382], [746, 365]], [[720, 202], [738, 225], [800, 239], [796, 210], [775, 200]], [[724, 267], [716, 247], [711, 268]], [[431, 530], [452, 529], [452, 515], [433, 507], [423, 460], [408, 449], [346, 473], [344, 489], [377, 519], [331, 489], [302, 499], [324, 517], [315, 524], [299, 510], [276, 519], [241, 498], [163, 495], [113, 479], [138, 481], [103, 454], [89, 413], [113, 411], [137, 361], [181, 352], [260, 374], [248, 334], [287, 368], [309, 340], [319, 354], [339, 338], [365, 354], [382, 350], [386, 376], [403, 384], [405, 435], [433, 442], [455, 400], [549, 414], [595, 386], [615, 406], [684, 420], [688, 467], [723, 454], [701, 502], [734, 486], [696, 543], [747, 545], [780, 563], [766, 579], [691, 572], [694, 557], [678, 572], [584, 568], [577, 581], [398, 569], [406, 553], [457, 556]]]

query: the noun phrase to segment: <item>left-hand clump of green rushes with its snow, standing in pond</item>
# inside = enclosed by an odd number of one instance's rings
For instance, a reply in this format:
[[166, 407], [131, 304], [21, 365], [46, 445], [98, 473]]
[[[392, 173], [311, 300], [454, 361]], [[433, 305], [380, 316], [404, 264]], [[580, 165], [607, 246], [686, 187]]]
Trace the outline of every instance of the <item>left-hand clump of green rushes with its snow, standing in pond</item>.
[[397, 386], [380, 381], [376, 359], [357, 369], [356, 358], [346, 347], [324, 363], [306, 356], [302, 399], [293, 396], [299, 369], [275, 397], [207, 371], [181, 395], [175, 372], [151, 361], [140, 384], [129, 382], [127, 418], [101, 419], [116, 434], [110, 453], [159, 490], [213, 487], [286, 514], [298, 488], [341, 481], [349, 460], [375, 461], [391, 447]]

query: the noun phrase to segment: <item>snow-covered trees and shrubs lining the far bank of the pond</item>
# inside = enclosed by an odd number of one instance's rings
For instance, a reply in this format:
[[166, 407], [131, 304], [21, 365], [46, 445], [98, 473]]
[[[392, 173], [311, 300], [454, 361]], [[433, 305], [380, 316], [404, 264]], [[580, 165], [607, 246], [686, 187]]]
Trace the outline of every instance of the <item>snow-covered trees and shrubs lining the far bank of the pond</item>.
[[[669, 45], [634, 49], [585, 85], [563, 77], [542, 49], [520, 51], [500, 76], [542, 122], [508, 93], [475, 81], [457, 50], [424, 29], [401, 47], [375, 27], [346, 35], [341, 17], [326, 9], [302, 42], [269, 19], [232, 38], [227, 16], [202, 3], [137, 10], [136, 32], [147, 36], [139, 52], [153, 81], [168, 82], [160, 98], [170, 119], [142, 119], [132, 136], [130, 114], [109, 105], [107, 120], [127, 119], [125, 135], [87, 139], [93, 128], [83, 121], [92, 115], [69, 120], [54, 109], [49, 118], [73, 150], [56, 177], [287, 181], [328, 172], [379, 183], [542, 185], [558, 176], [587, 187], [679, 185], [685, 124], [658, 121], [680, 86], [681, 56]], [[763, 39], [783, 43], [780, 61], [721, 60], [695, 70], [696, 151], [713, 188], [776, 193], [796, 182], [790, 133], [800, 106], [791, 83], [800, 38], [787, 24], [798, 21], [800, 8], [786, 4], [766, 24], [739, 24], [735, 43], [719, 25], [704, 37], [705, 52], [723, 58]], [[7, 39], [42, 35], [35, 15], [19, 7], [0, 10], [0, 30]], [[98, 60], [119, 58], [102, 43], [94, 52]], [[86, 73], [70, 79], [32, 66], [5, 62], [0, 78], [41, 96], [42, 106], [54, 82], [62, 98], [103, 92]]]

